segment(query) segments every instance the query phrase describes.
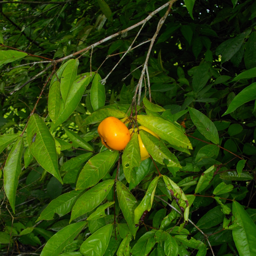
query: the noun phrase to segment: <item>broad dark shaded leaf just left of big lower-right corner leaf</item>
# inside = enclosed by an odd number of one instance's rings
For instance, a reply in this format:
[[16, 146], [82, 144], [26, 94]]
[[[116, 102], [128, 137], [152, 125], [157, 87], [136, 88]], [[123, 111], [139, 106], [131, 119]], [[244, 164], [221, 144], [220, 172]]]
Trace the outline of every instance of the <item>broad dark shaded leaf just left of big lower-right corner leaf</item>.
[[205, 230], [207, 228], [212, 228], [223, 222], [224, 214], [221, 211], [221, 206], [216, 206], [213, 209], [210, 209], [204, 216], [200, 218], [196, 226], [201, 230]]

